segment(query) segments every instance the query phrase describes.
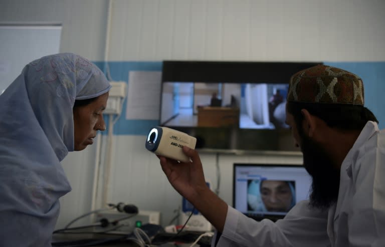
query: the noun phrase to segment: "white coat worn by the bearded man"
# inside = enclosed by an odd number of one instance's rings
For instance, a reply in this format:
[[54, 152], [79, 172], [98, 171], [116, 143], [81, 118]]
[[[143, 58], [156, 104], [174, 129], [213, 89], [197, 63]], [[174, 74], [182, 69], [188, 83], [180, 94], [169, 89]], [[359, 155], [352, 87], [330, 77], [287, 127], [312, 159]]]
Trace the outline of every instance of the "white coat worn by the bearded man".
[[385, 246], [385, 130], [366, 123], [341, 165], [338, 200], [328, 211], [302, 201], [274, 223], [229, 206], [217, 246]]

